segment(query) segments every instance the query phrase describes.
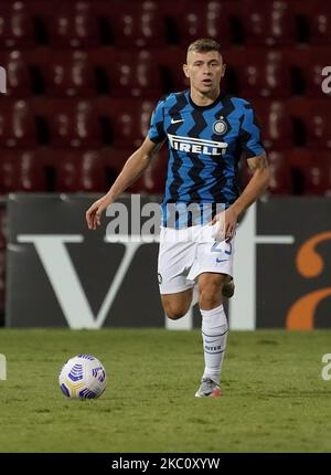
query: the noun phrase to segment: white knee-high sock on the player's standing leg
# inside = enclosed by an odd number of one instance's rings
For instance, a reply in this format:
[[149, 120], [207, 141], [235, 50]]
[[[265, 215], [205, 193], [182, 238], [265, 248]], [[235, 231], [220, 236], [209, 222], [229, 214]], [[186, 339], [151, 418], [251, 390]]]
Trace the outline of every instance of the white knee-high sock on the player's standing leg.
[[200, 309], [200, 312], [205, 365], [203, 378], [211, 378], [220, 383], [228, 331], [226, 315], [223, 305], [212, 310]]

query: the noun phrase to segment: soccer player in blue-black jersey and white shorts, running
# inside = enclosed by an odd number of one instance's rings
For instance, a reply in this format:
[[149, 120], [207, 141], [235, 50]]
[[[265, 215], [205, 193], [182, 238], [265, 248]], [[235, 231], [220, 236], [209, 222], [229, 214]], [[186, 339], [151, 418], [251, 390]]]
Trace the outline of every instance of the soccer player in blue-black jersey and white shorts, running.
[[[183, 72], [190, 88], [160, 99], [143, 144], [129, 157], [107, 194], [86, 212], [88, 228], [95, 230], [103, 211], [141, 176], [156, 151], [167, 144], [159, 285], [164, 312], [171, 319], [188, 313], [197, 286], [205, 362], [197, 398], [222, 394], [220, 379], [228, 332], [223, 297], [233, 294], [237, 220], [270, 179], [252, 105], [221, 91], [225, 67], [221, 46], [214, 40], [201, 39], [189, 46]], [[242, 155], [253, 176], [239, 193], [237, 167]], [[169, 225], [168, 209], [173, 204], [180, 211]], [[191, 204], [207, 212], [200, 221], [191, 213], [182, 226], [182, 207]]]

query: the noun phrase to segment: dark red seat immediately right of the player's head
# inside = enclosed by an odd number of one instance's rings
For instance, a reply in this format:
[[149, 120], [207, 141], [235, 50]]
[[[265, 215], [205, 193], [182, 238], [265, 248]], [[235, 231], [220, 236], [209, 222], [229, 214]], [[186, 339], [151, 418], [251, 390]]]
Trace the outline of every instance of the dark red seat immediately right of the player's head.
[[245, 49], [239, 57], [229, 54], [244, 97], [284, 97], [291, 94], [290, 68], [277, 50]]

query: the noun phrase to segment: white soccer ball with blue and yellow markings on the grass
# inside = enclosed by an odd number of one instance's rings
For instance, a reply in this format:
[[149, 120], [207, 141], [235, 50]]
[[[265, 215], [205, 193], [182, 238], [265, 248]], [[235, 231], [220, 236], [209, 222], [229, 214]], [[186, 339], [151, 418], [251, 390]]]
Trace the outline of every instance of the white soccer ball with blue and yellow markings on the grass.
[[106, 371], [90, 355], [78, 355], [63, 366], [58, 383], [64, 395], [72, 399], [94, 399], [106, 389]]

